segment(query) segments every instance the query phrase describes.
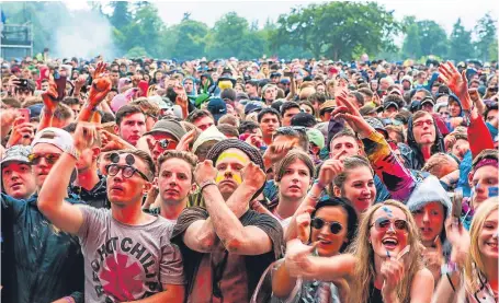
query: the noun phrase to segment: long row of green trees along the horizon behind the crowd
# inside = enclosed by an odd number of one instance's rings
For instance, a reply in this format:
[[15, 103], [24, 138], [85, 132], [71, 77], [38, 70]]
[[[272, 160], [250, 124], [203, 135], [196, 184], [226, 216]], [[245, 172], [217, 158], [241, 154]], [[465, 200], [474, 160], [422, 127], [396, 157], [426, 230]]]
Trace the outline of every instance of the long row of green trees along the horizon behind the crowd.
[[[189, 12], [180, 23], [166, 26], [156, 5], [147, 1], [89, 4], [95, 13], [106, 12], [118, 56], [148, 54], [155, 58], [180, 60], [201, 57], [256, 59], [262, 56], [351, 60], [365, 53], [371, 58], [388, 60], [433, 55], [484, 61], [498, 57], [496, 20], [490, 13], [477, 22], [474, 30], [477, 40], [472, 42], [470, 31], [464, 28], [461, 20], [447, 36], [434, 21], [406, 16], [398, 22], [393, 11], [375, 2], [331, 1], [296, 7], [280, 15], [275, 23], [266, 20], [263, 27], [229, 12], [212, 28], [192, 20]], [[56, 43], [55, 28], [64, 26], [60, 16], [71, 14], [63, 2], [4, 2], [2, 9], [8, 23], [33, 23], [35, 54]], [[398, 49], [394, 35], [400, 32], [405, 38]]]

